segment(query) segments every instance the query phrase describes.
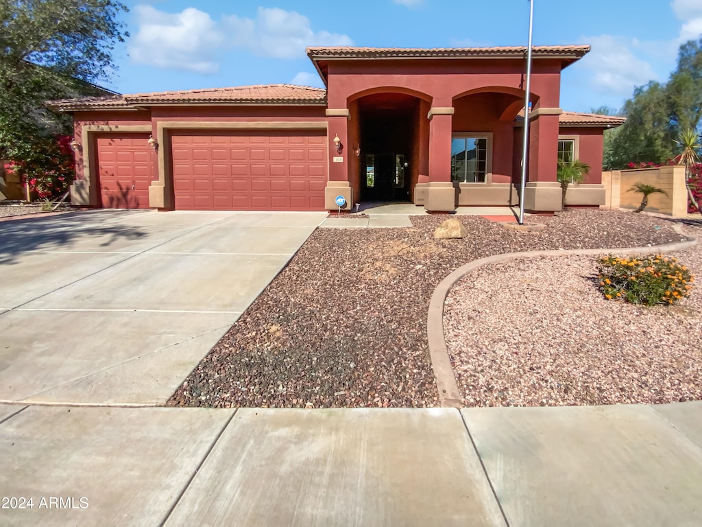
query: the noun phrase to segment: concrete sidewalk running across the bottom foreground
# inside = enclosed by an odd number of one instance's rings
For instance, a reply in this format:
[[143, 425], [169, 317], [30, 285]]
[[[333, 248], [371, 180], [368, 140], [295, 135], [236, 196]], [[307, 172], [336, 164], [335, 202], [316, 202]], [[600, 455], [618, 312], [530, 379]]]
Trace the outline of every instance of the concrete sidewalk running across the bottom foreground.
[[0, 451], [0, 495], [33, 506], [8, 501], [8, 526], [702, 524], [700, 401], [460, 412], [0, 405]]

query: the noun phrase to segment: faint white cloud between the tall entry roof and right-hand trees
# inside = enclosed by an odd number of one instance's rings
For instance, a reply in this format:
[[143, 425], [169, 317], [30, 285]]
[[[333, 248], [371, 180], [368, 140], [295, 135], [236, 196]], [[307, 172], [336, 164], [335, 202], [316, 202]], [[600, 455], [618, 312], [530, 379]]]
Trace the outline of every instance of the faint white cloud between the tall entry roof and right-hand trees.
[[613, 96], [629, 96], [634, 86], [656, 79], [651, 64], [637, 58], [631, 51], [633, 41], [606, 34], [585, 37], [585, 41], [592, 45], [592, 51], [585, 56], [582, 65], [590, 70], [593, 90]]

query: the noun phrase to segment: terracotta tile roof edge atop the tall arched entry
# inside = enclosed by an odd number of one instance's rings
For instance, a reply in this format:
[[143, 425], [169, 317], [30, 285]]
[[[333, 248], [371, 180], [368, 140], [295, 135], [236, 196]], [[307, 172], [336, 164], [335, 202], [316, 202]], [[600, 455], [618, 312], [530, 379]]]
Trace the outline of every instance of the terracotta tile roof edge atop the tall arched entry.
[[[534, 46], [534, 58], [581, 58], [590, 46]], [[527, 46], [496, 46], [489, 48], [358, 48], [347, 46], [310, 47], [307, 56], [312, 60], [340, 58], [464, 58], [496, 57], [522, 58]]]

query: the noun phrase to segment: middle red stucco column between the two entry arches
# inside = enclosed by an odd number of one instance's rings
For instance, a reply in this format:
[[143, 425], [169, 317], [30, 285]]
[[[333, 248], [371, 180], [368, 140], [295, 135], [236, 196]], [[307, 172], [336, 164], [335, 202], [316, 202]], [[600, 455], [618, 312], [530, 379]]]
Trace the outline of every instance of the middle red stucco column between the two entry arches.
[[451, 182], [452, 107], [432, 107], [429, 119], [429, 182], [424, 208], [429, 212], [456, 210], [456, 190]]

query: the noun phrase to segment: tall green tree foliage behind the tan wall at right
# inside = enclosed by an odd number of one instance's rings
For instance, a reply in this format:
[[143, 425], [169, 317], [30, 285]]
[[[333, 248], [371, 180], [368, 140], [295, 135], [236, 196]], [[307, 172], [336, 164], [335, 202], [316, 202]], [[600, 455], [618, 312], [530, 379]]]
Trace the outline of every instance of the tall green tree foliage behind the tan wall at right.
[[[684, 129], [700, 130], [702, 120], [702, 39], [680, 46], [677, 67], [665, 84], [651, 81], [624, 104], [626, 122], [606, 134], [604, 168], [628, 163], [663, 164], [674, 159]], [[609, 137], [607, 137], [609, 136]]]

